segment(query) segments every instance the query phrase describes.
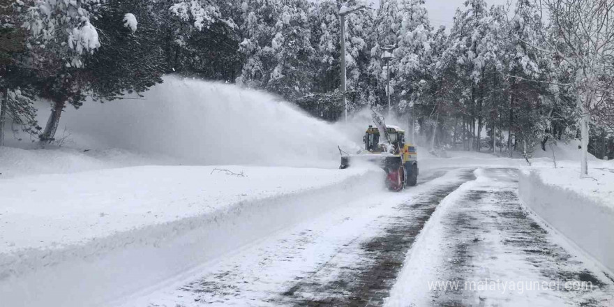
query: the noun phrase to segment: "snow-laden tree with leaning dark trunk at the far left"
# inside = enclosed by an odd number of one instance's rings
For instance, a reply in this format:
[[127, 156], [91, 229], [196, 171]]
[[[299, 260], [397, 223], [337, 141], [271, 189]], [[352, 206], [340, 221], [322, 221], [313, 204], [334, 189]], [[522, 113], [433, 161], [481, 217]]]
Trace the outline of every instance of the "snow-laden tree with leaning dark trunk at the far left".
[[28, 30], [29, 66], [39, 72], [38, 96], [52, 101], [52, 112], [40, 139], [53, 140], [66, 103], [78, 105], [84, 98], [80, 68], [83, 57], [100, 47], [91, 18], [98, 15], [100, 0], [22, 2], [22, 27]]

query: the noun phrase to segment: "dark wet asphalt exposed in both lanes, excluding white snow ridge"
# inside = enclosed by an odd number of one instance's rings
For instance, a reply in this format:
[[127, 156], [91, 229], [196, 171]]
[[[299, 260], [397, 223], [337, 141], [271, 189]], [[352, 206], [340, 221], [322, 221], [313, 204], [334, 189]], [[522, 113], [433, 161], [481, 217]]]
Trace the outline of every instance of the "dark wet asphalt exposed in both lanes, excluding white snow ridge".
[[[424, 172], [419, 185], [428, 184], [453, 170]], [[418, 234], [444, 198], [465, 182], [476, 180], [474, 170], [456, 169], [454, 180], [433, 185], [418, 195], [407, 188], [401, 192], [407, 193], [407, 200], [396, 204], [394, 214], [374, 219], [377, 224], [374, 234], [340, 243], [329, 260], [286, 280], [283, 291], [267, 293], [265, 298], [262, 294], [250, 297], [239, 285], [247, 281], [232, 277], [238, 274], [232, 269], [202, 276], [181, 287], [180, 291], [197, 297], [190, 306], [223, 306], [229, 297], [240, 295], [252, 306], [382, 306]], [[551, 300], [565, 301], [569, 306], [614, 306], [614, 279], [604, 272], [596, 272], [594, 267], [558, 245], [553, 235], [537, 223], [518, 200], [516, 170], [488, 168], [483, 174], [488, 180], [463, 190], [461, 197], [455, 198], [457, 201], [437, 222], [444, 225], [446, 242], [442, 245], [442, 253], [447, 255], [447, 261], [435, 270], [437, 278], [458, 283], [505, 276], [590, 281], [595, 285], [590, 290], [553, 290], [539, 293], [537, 298], [540, 303]], [[288, 247], [288, 253], [294, 255], [296, 248], [310, 241], [309, 236], [308, 231], [297, 234], [299, 243]], [[276, 257], [279, 259], [267, 261], [292, 261], [294, 256], [276, 255], [273, 258]], [[517, 265], [512, 272], [506, 273], [498, 266], [508, 260]], [[258, 278], [250, 281], [254, 282], [257, 283]], [[462, 288], [432, 290], [428, 297], [427, 306], [506, 306], [518, 299], [511, 294], [491, 295]], [[530, 297], [528, 302], [531, 302]], [[411, 299], [407, 306], [414, 306]]]

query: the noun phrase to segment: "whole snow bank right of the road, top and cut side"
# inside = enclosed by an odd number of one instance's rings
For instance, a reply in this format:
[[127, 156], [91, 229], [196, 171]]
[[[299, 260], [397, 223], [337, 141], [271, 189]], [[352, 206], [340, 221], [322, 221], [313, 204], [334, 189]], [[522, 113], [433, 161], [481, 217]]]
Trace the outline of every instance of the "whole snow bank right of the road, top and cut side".
[[521, 200], [557, 232], [614, 272], [614, 171], [578, 167], [524, 169]]

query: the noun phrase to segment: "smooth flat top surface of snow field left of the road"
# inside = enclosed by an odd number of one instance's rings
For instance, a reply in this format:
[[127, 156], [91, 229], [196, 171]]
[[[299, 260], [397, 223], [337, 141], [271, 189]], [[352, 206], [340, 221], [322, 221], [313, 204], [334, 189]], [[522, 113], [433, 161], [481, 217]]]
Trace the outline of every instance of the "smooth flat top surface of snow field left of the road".
[[[225, 170], [239, 175], [227, 173]], [[60, 249], [364, 177], [293, 167], [140, 166], [2, 181], [0, 250]]]

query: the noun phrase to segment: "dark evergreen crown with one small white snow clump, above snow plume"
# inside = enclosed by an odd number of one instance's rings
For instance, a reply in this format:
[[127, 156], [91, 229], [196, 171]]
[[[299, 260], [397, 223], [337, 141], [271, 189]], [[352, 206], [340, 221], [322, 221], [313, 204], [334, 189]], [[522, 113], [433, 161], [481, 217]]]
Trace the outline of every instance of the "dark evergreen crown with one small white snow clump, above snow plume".
[[87, 89], [94, 99], [111, 100], [123, 93], [143, 92], [162, 82], [165, 72], [162, 40], [149, 0], [109, 0], [92, 24], [100, 36], [96, 54], [84, 57]]

